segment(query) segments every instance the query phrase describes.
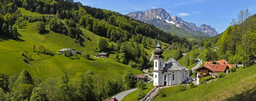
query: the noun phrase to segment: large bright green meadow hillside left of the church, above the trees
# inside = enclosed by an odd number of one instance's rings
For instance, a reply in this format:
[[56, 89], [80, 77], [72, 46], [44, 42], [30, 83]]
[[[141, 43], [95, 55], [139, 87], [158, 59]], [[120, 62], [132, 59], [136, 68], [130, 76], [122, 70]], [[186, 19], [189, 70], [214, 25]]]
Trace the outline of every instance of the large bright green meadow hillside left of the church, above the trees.
[[[26, 69], [32, 75], [32, 77], [40, 77], [42, 79], [49, 77], [59, 77], [67, 73], [68, 76], [74, 76], [77, 72], [86, 72], [92, 70], [95, 74], [104, 72], [103, 76], [111, 76], [113, 72], [116, 74], [123, 74], [125, 70], [132, 70], [134, 74], [142, 74], [140, 71], [118, 63], [114, 60], [112, 52], [110, 58], [92, 58], [88, 60], [86, 58], [74, 59], [67, 58], [63, 55], [54, 56], [46, 55], [32, 51], [32, 45], [36, 45], [35, 51], [39, 51], [38, 46], [43, 45], [45, 48], [57, 53], [62, 48], [72, 48], [77, 51], [88, 51], [95, 55], [98, 52], [94, 52], [93, 49], [96, 47], [97, 40], [100, 36], [93, 34], [86, 29], [81, 28], [82, 32], [90, 37], [90, 40], [84, 39], [82, 43], [84, 47], [77, 45], [73, 42], [73, 39], [62, 35], [60, 33], [54, 33], [49, 30], [49, 26], [46, 25], [46, 30], [49, 31], [47, 34], [40, 35], [36, 30], [36, 22], [27, 23], [27, 26], [18, 29], [19, 39], [12, 40], [4, 36], [0, 36], [0, 73], [7, 74], [8, 76], [14, 73], [20, 73]], [[22, 60], [21, 53], [24, 52], [29, 56], [31, 54], [32, 59], [30, 64], [26, 64]]]

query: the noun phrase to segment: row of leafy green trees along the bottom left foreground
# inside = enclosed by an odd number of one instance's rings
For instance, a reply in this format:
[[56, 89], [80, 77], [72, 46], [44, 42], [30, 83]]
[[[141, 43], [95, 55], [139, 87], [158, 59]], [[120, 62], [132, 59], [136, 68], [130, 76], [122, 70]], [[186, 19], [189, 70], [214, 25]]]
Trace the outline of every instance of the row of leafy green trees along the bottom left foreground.
[[[121, 77], [103, 78], [91, 70], [70, 78], [32, 78], [27, 70], [8, 78], [0, 74], [1, 101], [101, 101], [124, 89], [135, 87], [134, 74], [125, 71]], [[143, 82], [142, 82], [143, 83]], [[140, 83], [141, 84], [141, 83]], [[144, 83], [143, 83], [144, 84]], [[141, 85], [143, 85], [141, 84]], [[143, 85], [144, 87], [144, 85]]]

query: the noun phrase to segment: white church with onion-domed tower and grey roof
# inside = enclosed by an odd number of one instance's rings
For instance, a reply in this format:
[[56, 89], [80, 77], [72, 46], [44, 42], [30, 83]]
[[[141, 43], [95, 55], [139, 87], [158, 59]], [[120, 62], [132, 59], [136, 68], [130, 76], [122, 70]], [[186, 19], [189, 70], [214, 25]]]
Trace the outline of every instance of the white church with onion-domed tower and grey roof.
[[159, 40], [154, 53], [154, 85], [177, 85], [179, 83], [182, 84], [189, 78], [189, 69], [182, 66], [174, 58], [164, 62], [163, 50]]

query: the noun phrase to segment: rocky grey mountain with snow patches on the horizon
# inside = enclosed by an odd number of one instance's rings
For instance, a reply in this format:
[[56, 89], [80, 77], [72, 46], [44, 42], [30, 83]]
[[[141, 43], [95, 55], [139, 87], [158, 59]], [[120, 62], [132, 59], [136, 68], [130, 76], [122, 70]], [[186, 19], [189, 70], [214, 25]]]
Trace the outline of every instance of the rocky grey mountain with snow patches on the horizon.
[[198, 33], [199, 35], [204, 35], [204, 36], [215, 36], [219, 34], [216, 31], [216, 29], [214, 29], [210, 25], [202, 24], [197, 27], [195, 23], [188, 23], [182, 20], [180, 17], [170, 16], [170, 14], [168, 14], [168, 12], [166, 12], [166, 10], [164, 10], [163, 8], [146, 10], [145, 12], [142, 12], [142, 11], [131, 12], [126, 15], [134, 19], [144, 21], [146, 23], [150, 23], [160, 29], [163, 29], [164, 31], [174, 33], [177, 35], [178, 33], [175, 33], [176, 31], [170, 31], [169, 29], [172, 29], [172, 28], [177, 29], [177, 27], [179, 27], [179, 28], [182, 28], [179, 30], [186, 30], [191, 35], [195, 33]]

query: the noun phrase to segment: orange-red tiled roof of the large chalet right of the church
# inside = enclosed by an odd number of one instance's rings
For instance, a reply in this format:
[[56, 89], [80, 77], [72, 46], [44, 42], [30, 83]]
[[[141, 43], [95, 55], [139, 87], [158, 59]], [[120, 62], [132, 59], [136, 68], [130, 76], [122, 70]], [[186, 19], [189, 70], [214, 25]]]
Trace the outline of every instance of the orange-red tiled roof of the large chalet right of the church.
[[205, 67], [205, 68], [208, 68], [209, 70], [212, 70], [213, 72], [224, 72], [226, 70], [227, 66], [228, 65], [226, 65], [226, 64], [206, 64], [204, 66], [196, 68], [195, 70]]

